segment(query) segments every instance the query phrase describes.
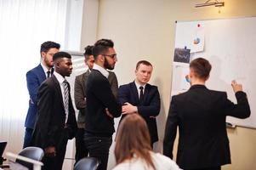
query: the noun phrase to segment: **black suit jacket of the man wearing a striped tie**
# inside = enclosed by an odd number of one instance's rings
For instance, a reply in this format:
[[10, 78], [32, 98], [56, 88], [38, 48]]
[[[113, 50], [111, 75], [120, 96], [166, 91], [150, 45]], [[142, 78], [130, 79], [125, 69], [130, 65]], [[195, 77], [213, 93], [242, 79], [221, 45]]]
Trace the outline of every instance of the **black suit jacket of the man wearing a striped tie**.
[[[68, 88], [70, 89], [70, 86]], [[38, 91], [37, 122], [32, 134], [32, 145], [43, 149], [48, 146], [58, 147], [62, 140], [72, 139], [76, 131], [77, 121], [71, 94], [69, 93], [68, 120], [65, 123], [60, 82], [55, 76], [49, 77]]]

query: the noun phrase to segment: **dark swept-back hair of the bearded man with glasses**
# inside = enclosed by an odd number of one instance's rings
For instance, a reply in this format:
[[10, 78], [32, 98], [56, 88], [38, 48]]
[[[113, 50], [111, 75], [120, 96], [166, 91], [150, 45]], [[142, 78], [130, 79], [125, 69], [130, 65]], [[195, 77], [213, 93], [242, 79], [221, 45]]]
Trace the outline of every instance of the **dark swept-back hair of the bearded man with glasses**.
[[100, 54], [105, 54], [109, 48], [114, 48], [114, 42], [110, 39], [100, 39], [95, 42], [93, 48], [94, 59]]

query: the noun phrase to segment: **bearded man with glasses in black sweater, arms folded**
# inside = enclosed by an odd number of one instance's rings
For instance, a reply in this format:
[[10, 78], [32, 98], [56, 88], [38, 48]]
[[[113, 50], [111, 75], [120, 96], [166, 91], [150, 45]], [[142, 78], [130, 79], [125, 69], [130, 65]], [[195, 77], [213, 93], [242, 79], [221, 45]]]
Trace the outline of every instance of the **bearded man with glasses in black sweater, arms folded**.
[[100, 160], [100, 170], [106, 170], [112, 134], [115, 132], [113, 117], [121, 116], [122, 105], [111, 91], [109, 72], [117, 62], [114, 43], [101, 39], [94, 44], [94, 67], [88, 76], [85, 94], [87, 112], [85, 114], [84, 143], [89, 156]]

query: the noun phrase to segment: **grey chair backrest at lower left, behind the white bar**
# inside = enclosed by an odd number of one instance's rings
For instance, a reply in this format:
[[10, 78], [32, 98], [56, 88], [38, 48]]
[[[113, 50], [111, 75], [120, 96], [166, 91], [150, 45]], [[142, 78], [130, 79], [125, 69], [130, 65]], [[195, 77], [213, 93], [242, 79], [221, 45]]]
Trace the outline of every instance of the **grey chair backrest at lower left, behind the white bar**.
[[[41, 161], [43, 158], [43, 150], [38, 147], [26, 147], [23, 150], [20, 151], [19, 156], [25, 156], [28, 158], [31, 158], [32, 160], [35, 161]], [[33, 169], [33, 164], [26, 162], [26, 161], [21, 161], [21, 160], [16, 160], [16, 162], [20, 163], [24, 167], [28, 167], [29, 169]]]

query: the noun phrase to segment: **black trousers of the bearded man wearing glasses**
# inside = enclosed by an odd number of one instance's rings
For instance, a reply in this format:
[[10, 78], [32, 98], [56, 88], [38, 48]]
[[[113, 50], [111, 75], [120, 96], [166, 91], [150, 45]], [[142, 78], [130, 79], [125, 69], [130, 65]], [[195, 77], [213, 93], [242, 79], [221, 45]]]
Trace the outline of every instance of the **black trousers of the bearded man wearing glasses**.
[[89, 156], [100, 160], [98, 170], [106, 170], [109, 157], [109, 150], [112, 144], [111, 137], [99, 137], [92, 133], [84, 133], [84, 144], [88, 148]]

